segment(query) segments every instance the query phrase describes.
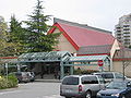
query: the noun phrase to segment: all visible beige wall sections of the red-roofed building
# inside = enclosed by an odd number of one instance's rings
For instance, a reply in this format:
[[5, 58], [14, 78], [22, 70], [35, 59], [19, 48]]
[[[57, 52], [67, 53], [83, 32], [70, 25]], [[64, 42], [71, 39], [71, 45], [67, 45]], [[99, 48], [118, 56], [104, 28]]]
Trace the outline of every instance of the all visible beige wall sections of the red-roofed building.
[[[60, 33], [59, 29], [55, 29], [53, 33]], [[69, 51], [71, 53], [76, 52], [74, 47], [68, 41], [68, 39], [61, 34], [59, 39], [59, 44], [57, 46], [57, 50], [60, 51]], [[115, 51], [120, 49], [117, 39], [115, 40], [112, 48], [110, 50], [110, 58], [112, 59]], [[82, 70], [99, 70], [98, 65], [91, 65], [91, 66], [75, 66], [75, 69], [81, 68]], [[105, 71], [108, 71], [108, 66], [104, 66]], [[122, 73], [122, 62], [112, 62], [112, 71]], [[126, 75], [131, 76], [131, 65], [127, 66], [126, 69]]]

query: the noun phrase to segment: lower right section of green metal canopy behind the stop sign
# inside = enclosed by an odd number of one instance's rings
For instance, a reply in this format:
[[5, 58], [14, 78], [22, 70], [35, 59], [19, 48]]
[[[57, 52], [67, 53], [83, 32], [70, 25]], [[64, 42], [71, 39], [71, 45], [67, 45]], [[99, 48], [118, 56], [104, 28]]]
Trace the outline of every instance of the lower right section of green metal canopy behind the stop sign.
[[[98, 65], [98, 61], [103, 61], [103, 66], [107, 65], [108, 70], [111, 69], [111, 60], [108, 56], [84, 56], [84, 57], [69, 57], [62, 62], [61, 75], [64, 76], [64, 66], [70, 66], [70, 74], [73, 74], [73, 66], [83, 65]], [[96, 63], [94, 63], [96, 62]], [[103, 66], [99, 66], [100, 71], [104, 71]]]

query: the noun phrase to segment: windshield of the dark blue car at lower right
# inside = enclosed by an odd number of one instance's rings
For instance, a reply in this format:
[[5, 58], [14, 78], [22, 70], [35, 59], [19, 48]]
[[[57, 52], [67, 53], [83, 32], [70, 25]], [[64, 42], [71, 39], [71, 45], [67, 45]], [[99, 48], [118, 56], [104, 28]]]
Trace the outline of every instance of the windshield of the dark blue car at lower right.
[[106, 88], [108, 89], [124, 89], [127, 87], [124, 82], [111, 82]]

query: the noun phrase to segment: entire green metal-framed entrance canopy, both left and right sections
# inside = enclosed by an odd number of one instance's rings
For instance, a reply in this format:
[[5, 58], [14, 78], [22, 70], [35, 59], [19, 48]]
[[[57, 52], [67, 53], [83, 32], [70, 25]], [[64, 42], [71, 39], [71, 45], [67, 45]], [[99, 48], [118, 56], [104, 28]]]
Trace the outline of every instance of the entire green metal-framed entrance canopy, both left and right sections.
[[[70, 74], [73, 74], [73, 66], [75, 65], [97, 65], [93, 62], [103, 60], [104, 65], [111, 66], [111, 60], [108, 56], [83, 56], [72, 57], [68, 51], [51, 51], [51, 52], [33, 52], [23, 53], [19, 57], [19, 63], [27, 62], [60, 62], [61, 78], [64, 76], [64, 68], [70, 66]], [[103, 68], [102, 68], [103, 69]]]

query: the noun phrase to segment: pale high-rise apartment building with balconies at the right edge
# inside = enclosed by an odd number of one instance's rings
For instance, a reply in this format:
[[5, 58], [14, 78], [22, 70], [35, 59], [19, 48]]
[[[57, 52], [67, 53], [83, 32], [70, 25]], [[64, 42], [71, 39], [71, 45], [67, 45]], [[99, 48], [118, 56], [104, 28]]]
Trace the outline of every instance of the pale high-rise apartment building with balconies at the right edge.
[[115, 36], [124, 47], [131, 46], [131, 14], [123, 15], [115, 26]]

